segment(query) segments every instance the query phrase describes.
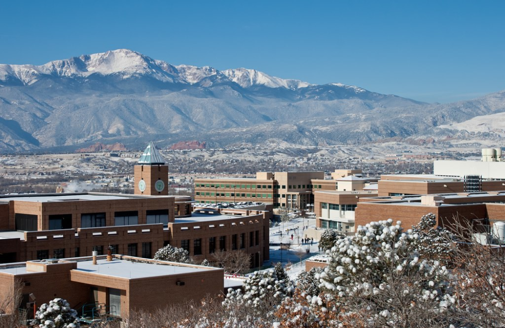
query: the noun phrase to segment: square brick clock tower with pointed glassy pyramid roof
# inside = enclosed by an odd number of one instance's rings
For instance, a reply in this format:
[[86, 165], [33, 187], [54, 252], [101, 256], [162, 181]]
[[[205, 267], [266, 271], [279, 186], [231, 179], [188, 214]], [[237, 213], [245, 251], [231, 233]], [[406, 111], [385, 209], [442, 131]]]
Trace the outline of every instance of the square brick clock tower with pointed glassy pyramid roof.
[[135, 195], [168, 195], [168, 165], [152, 141], [135, 166]]

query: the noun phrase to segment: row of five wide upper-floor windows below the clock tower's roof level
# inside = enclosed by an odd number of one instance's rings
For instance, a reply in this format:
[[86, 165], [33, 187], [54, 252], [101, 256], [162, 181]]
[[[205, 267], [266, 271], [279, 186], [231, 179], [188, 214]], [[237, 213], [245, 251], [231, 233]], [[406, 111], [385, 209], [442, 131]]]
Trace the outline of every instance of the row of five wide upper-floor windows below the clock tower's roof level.
[[[16, 230], [36, 231], [37, 215], [16, 213]], [[168, 225], [168, 209], [146, 211], [146, 224]], [[138, 225], [138, 211], [114, 212], [115, 226]], [[81, 228], [106, 227], [106, 213], [82, 213]], [[49, 230], [72, 229], [72, 214], [49, 215]]]

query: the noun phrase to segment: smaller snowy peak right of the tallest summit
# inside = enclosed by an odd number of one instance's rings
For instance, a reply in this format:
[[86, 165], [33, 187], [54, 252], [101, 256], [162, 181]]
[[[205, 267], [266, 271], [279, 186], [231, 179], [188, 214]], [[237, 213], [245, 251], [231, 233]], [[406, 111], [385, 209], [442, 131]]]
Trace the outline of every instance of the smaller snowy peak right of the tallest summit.
[[267, 75], [257, 70], [245, 68], [237, 68], [232, 70], [221, 71], [230, 80], [239, 84], [242, 88], [248, 88], [254, 85], [264, 85], [269, 88], [284, 87], [287, 89], [298, 89], [310, 86], [310, 83], [300, 80], [285, 80], [278, 77]]

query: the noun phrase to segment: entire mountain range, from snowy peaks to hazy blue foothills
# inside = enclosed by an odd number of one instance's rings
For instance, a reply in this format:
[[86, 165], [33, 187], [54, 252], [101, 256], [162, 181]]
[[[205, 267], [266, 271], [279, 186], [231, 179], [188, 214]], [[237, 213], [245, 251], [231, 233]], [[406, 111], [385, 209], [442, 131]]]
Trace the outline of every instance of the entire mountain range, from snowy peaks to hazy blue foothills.
[[[174, 66], [128, 49], [41, 66], [0, 64], [0, 152], [96, 142], [140, 149], [148, 140], [160, 147], [499, 142], [502, 131], [485, 117], [503, 112], [505, 91], [429, 104], [251, 69]], [[469, 129], [481, 121], [489, 128]]]

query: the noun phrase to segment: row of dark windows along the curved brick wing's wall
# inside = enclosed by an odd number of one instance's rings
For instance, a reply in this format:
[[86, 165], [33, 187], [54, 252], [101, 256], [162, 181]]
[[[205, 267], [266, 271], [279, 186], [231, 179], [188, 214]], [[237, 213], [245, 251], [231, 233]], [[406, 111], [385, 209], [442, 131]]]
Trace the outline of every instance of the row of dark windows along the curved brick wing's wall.
[[[190, 240], [181, 240], [181, 248], [190, 252], [189, 250]], [[249, 247], [260, 245], [260, 231], [250, 231], [249, 232]], [[245, 233], [231, 235], [231, 249], [243, 249], [245, 248]], [[215, 253], [217, 250], [226, 251], [226, 236], [219, 237], [209, 237], [209, 253]], [[193, 254], [201, 255], [201, 238], [193, 239]]]

